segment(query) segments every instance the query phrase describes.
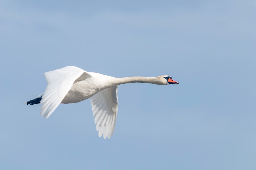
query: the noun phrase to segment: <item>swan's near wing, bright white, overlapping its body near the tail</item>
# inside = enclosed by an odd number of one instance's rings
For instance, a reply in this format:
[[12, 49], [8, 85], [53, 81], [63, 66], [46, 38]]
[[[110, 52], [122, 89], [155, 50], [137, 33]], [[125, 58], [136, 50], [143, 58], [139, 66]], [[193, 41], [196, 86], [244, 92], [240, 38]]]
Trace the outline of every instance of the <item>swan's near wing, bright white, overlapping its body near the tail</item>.
[[74, 82], [84, 80], [90, 77], [90, 74], [81, 68], [67, 66], [46, 72], [44, 76], [48, 85], [40, 101], [42, 104], [41, 116], [44, 114], [45, 118], [49, 118], [67, 95]]

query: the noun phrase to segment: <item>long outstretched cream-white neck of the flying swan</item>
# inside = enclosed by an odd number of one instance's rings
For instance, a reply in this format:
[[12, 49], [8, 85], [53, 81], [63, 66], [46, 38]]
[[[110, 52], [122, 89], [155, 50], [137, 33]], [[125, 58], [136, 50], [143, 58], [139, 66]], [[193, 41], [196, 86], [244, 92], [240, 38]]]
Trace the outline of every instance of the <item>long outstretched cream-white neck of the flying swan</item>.
[[116, 78], [115, 84], [126, 84], [126, 83], [151, 83], [151, 84], [160, 84], [158, 78], [156, 77], [123, 77]]

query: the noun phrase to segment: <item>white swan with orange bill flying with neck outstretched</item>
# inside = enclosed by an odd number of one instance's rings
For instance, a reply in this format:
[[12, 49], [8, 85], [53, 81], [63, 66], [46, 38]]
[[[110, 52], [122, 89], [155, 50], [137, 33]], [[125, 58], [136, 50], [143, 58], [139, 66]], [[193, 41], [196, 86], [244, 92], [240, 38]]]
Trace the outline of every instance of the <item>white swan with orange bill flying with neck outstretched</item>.
[[118, 85], [125, 83], [179, 84], [170, 76], [115, 78], [66, 66], [44, 73], [48, 85], [43, 94], [25, 102], [41, 103], [41, 116], [53, 113], [60, 103], [76, 103], [90, 98], [94, 122], [99, 137], [110, 138], [114, 132], [118, 111]]

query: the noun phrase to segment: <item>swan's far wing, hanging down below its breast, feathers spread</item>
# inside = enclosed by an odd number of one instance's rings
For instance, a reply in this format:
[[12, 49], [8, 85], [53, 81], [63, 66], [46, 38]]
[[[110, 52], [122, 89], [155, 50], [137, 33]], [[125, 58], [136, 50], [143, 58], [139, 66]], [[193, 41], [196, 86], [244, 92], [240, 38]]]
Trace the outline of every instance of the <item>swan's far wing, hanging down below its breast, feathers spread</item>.
[[110, 138], [114, 132], [118, 110], [117, 89], [118, 86], [105, 88], [90, 98], [96, 130], [99, 137], [103, 134], [104, 139]]

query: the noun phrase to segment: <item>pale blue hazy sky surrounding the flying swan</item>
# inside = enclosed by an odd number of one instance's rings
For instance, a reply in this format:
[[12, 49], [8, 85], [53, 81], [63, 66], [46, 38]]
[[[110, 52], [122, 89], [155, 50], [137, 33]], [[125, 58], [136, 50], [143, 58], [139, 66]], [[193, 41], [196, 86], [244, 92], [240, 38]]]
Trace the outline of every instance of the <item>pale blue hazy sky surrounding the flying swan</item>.
[[[0, 169], [256, 169], [255, 1], [0, 1]], [[67, 65], [170, 75], [119, 86], [110, 140], [90, 101], [23, 102]]]

